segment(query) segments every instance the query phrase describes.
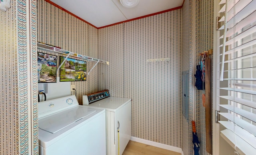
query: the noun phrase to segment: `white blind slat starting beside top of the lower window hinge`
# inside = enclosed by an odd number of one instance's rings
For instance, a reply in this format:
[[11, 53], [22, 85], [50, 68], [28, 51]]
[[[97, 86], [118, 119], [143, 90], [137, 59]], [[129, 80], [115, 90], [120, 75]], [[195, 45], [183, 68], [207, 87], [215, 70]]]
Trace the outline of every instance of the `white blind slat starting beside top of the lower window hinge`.
[[254, 126], [254, 125], [252, 125], [252, 124], [250, 124], [250, 123], [242, 120], [241, 118], [238, 118], [230, 113], [219, 112], [218, 114], [220, 114], [221, 116], [225, 117], [226, 119], [234, 122], [238, 126], [244, 128], [246, 131], [248, 131], [252, 135], [256, 136], [256, 126]]

